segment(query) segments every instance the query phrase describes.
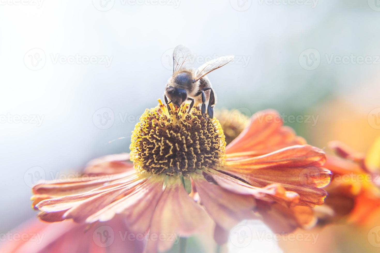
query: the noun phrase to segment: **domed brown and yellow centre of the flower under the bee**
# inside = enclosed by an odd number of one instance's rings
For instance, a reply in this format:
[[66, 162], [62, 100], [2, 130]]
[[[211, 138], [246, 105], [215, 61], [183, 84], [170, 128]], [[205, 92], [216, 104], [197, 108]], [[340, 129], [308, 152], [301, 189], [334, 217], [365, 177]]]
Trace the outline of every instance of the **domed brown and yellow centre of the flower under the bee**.
[[217, 119], [205, 119], [199, 108], [184, 103], [178, 112], [160, 104], [146, 110], [131, 139], [131, 160], [148, 174], [189, 176], [223, 166], [225, 137]]

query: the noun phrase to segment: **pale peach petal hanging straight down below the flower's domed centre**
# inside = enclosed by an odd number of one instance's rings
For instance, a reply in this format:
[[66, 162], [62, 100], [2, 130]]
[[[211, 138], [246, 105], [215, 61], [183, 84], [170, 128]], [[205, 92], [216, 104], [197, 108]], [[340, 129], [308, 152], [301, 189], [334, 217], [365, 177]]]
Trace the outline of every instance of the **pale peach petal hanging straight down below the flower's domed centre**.
[[176, 234], [191, 236], [202, 228], [206, 219], [206, 212], [188, 196], [181, 182], [167, 185], [152, 217], [146, 251], [169, 250]]

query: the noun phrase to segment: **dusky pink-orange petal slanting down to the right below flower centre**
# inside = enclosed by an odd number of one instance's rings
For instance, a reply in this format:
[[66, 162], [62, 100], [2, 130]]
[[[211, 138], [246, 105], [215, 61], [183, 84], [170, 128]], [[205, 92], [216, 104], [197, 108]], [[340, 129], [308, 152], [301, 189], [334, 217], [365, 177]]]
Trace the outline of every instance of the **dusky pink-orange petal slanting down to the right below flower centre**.
[[224, 229], [231, 229], [243, 219], [255, 218], [252, 210], [255, 200], [252, 196], [241, 195], [206, 180], [194, 180], [201, 203], [212, 219]]

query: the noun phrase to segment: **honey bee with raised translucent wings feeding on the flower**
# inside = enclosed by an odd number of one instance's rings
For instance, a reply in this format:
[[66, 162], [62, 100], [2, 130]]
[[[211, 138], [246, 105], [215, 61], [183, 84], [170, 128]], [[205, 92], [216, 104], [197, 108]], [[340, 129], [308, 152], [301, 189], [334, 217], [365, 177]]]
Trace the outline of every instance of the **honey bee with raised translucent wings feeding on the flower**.
[[186, 68], [187, 61], [192, 58], [190, 50], [185, 46], [179, 45], [173, 51], [173, 75], [166, 84], [164, 99], [170, 111], [169, 104], [180, 107], [185, 101], [190, 101], [188, 113], [194, 106], [194, 102], [201, 103], [201, 113], [206, 118], [214, 117], [213, 107], [216, 104], [216, 93], [212, 89], [211, 82], [207, 74], [218, 69], [233, 60], [234, 56], [224, 56], [207, 61], [198, 69]]

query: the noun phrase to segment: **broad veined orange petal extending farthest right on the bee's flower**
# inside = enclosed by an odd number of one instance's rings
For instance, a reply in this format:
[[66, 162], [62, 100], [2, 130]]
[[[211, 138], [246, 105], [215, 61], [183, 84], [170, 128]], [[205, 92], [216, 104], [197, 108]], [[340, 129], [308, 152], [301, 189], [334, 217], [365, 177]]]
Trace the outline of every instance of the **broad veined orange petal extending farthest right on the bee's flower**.
[[280, 183], [287, 191], [300, 196], [299, 204], [323, 204], [326, 192], [320, 187], [330, 182], [331, 172], [319, 166], [325, 153], [310, 145], [296, 145], [278, 151], [225, 163], [223, 170], [244, 179], [255, 187]]

